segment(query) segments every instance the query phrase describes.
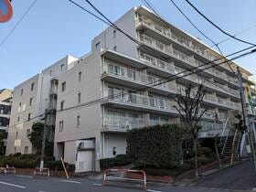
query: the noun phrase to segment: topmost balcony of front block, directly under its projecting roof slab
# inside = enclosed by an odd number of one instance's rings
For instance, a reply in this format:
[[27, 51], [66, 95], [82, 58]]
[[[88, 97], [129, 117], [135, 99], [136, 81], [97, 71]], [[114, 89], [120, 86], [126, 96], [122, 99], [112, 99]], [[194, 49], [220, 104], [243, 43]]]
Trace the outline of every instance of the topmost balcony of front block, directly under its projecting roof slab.
[[[157, 90], [157, 91], [165, 91], [166, 93], [176, 91], [176, 83], [173, 81], [165, 82], [163, 84], [159, 84], [161, 79], [156, 78], [151, 75], [145, 75], [144, 73], [140, 73], [133, 69], [123, 68], [121, 66], [107, 63], [104, 66], [104, 73], [102, 74], [102, 78], [107, 78], [108, 76], [115, 77], [113, 80], [109, 77], [108, 80], [116, 83], [116, 78], [126, 81], [123, 82], [123, 85], [130, 86], [130, 87], [138, 87], [138, 84], [151, 87], [150, 90]], [[154, 86], [155, 85], [155, 86]], [[153, 87], [154, 86], [154, 87]]]

